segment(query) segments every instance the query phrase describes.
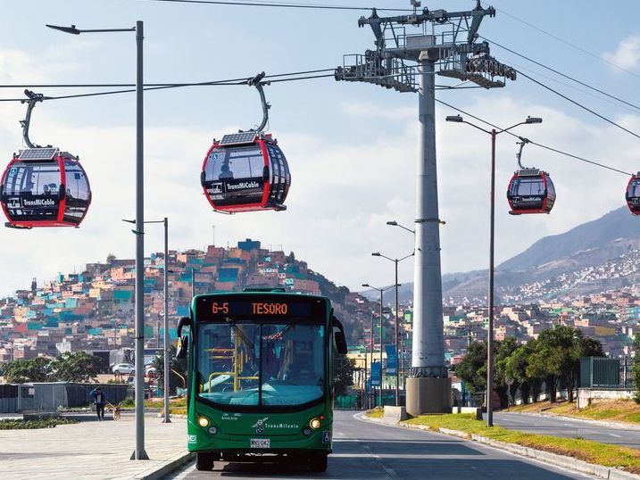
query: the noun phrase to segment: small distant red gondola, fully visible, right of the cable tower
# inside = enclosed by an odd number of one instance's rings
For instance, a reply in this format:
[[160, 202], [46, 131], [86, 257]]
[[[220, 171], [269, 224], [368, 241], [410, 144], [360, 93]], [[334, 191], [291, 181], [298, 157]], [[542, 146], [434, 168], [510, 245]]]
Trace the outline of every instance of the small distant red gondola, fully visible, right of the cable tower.
[[543, 170], [523, 168], [520, 163], [522, 147], [528, 143], [522, 138], [516, 157], [520, 170], [513, 173], [507, 188], [511, 215], [549, 213], [555, 203], [555, 187], [549, 174]]

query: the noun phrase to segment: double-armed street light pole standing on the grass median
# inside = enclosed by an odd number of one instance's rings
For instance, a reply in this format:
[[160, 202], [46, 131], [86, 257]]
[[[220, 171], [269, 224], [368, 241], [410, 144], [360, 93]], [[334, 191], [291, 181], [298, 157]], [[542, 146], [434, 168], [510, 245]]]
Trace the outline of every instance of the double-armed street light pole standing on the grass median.
[[489, 186], [489, 291], [487, 295], [487, 310], [489, 325], [486, 332], [486, 426], [494, 426], [494, 406], [492, 393], [494, 385], [494, 252], [495, 252], [495, 137], [511, 130], [519, 125], [542, 123], [541, 118], [527, 117], [509, 128], [486, 130], [469, 121], [462, 119], [460, 115], [450, 115], [446, 121], [454, 123], [466, 123], [473, 128], [485, 132], [491, 136], [491, 184]]

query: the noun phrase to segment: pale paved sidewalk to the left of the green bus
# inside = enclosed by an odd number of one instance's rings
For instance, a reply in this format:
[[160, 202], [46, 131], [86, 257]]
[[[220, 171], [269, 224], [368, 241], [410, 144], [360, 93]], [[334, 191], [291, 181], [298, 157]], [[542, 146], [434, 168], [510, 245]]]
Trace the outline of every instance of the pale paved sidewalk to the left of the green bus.
[[[130, 460], [136, 445], [133, 415], [113, 421], [82, 421], [36, 430], [0, 430], [3, 478], [159, 478], [166, 468], [186, 462], [184, 418], [145, 418], [145, 451], [149, 460]], [[155, 473], [155, 475], [154, 475]]]

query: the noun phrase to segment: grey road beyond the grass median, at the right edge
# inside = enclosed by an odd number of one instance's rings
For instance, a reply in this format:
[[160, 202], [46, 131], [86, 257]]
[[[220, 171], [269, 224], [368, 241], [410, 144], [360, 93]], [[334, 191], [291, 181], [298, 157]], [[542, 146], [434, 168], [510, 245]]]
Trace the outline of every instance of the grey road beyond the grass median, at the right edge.
[[596, 442], [640, 449], [640, 428], [599, 426], [581, 420], [506, 412], [495, 412], [494, 424], [522, 432], [571, 438], [579, 436]]

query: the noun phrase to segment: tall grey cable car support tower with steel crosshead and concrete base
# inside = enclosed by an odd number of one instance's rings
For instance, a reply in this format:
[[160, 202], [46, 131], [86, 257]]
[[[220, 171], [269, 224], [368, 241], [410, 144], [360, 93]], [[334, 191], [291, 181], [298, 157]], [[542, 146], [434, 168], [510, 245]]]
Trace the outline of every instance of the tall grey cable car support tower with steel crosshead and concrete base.
[[[420, 144], [417, 169], [415, 219], [415, 277], [411, 373], [407, 378], [407, 412], [411, 415], [451, 411], [451, 380], [445, 367], [440, 233], [436, 178], [435, 75], [480, 87], [504, 87], [514, 80], [511, 67], [495, 61], [486, 42], [477, 42], [478, 28], [495, 9], [483, 9], [480, 1], [468, 12], [420, 10], [411, 0], [413, 13], [379, 17], [373, 9], [361, 17], [359, 27], [369, 25], [376, 37], [375, 50], [345, 55], [335, 71], [337, 80], [366, 82], [398, 92], [417, 92]], [[418, 33], [408, 34], [407, 27]], [[421, 30], [421, 31], [420, 31]], [[397, 344], [397, 338], [396, 338]]]

